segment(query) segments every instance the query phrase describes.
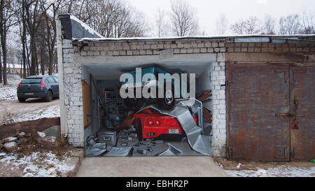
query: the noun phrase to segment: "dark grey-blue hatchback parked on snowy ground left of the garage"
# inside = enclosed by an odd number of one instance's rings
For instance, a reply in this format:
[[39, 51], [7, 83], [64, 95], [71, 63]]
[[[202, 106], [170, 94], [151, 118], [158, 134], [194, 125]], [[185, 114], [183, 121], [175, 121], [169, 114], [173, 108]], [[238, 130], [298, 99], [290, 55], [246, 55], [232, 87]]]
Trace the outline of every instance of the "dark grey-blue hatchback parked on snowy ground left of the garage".
[[18, 85], [18, 100], [25, 102], [28, 98], [44, 98], [52, 101], [59, 97], [59, 79], [57, 76], [29, 76]]

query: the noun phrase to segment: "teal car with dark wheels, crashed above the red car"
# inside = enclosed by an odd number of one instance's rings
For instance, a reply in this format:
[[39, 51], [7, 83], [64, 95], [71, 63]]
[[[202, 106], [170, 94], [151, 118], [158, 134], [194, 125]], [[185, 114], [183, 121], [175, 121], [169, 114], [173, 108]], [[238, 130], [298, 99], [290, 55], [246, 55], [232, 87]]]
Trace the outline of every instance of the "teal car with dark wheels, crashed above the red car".
[[[134, 82], [133, 83], [130, 83], [130, 82], [124, 82], [123, 84], [127, 84], [128, 87], [132, 87], [131, 90], [134, 91], [134, 93], [137, 91], [137, 87], [138, 86], [141, 86], [141, 91], [142, 91], [142, 88], [145, 86], [145, 85], [149, 85], [149, 86], [155, 86], [157, 87], [157, 94], [158, 94], [158, 89], [160, 87], [164, 87], [164, 94], [163, 94], [163, 97], [160, 98], [158, 97], [158, 95], [156, 95], [156, 99], [153, 99], [155, 100], [158, 105], [161, 107], [161, 108], [164, 108], [166, 110], [170, 110], [174, 107], [175, 105], [175, 97], [174, 97], [174, 80], [171, 81], [172, 83], [172, 90], [166, 90], [166, 83], [167, 81], [164, 81], [163, 84], [160, 84], [159, 83], [159, 79], [158, 79], [158, 74], [159, 73], [162, 73], [162, 74], [167, 74], [169, 73], [170, 75], [174, 74], [174, 73], [178, 73], [179, 74], [179, 80], [181, 80], [181, 75], [185, 72], [181, 71], [181, 70], [167, 70], [167, 69], [164, 69], [160, 66], [153, 66], [153, 67], [147, 67], [147, 68], [144, 68], [144, 69], [141, 69], [141, 79], [143, 78], [144, 75], [146, 75], [147, 73], [152, 73], [154, 76], [155, 76], [155, 80], [148, 80], [146, 82], [141, 82], [141, 83], [137, 83], [136, 82], [136, 75], [137, 75], [137, 71], [136, 70], [133, 70], [133, 71], [127, 71], [127, 73], [130, 73], [132, 74], [132, 76], [134, 77]], [[181, 82], [179, 83], [181, 85]], [[186, 84], [186, 83], [184, 83]], [[189, 83], [187, 83], [187, 85], [189, 85]], [[188, 86], [188, 90], [189, 90], [189, 86]], [[181, 91], [180, 91], [180, 98], [183, 98], [182, 95], [181, 95]], [[135, 97], [134, 98], [126, 98], [124, 99], [124, 103], [126, 106], [130, 107], [130, 108], [137, 108], [137, 106], [139, 107], [139, 103], [143, 102], [144, 98], [140, 98], [140, 99], [136, 99]], [[142, 104], [142, 103], [141, 103]]]

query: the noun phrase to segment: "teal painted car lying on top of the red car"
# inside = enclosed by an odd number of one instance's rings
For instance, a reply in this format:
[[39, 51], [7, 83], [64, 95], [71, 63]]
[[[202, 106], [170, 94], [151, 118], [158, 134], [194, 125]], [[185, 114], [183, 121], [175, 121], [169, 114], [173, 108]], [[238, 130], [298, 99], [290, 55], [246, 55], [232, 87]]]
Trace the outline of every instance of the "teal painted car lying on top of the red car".
[[[147, 68], [143, 68], [140, 70], [134, 70], [134, 71], [127, 71], [127, 73], [130, 73], [133, 78], [134, 78], [134, 82], [128, 82], [127, 80], [123, 83], [123, 85], [127, 85], [128, 90], [132, 90], [134, 93], [134, 98], [130, 98], [127, 97], [126, 99], [124, 99], [125, 105], [130, 107], [130, 108], [137, 108], [139, 107], [139, 103], [146, 101], [148, 98], [144, 98], [142, 95], [142, 90], [143, 88], [146, 87], [156, 87], [156, 95], [151, 95], [150, 99], [153, 99], [155, 102], [158, 103], [158, 106], [160, 106], [160, 108], [166, 109], [166, 110], [170, 110], [174, 107], [175, 105], [175, 97], [176, 94], [174, 94], [174, 91], [176, 90], [174, 87], [176, 87], [177, 85], [179, 85], [179, 87], [181, 87], [181, 76], [183, 75], [183, 71], [181, 70], [176, 70], [176, 71], [167, 71], [166, 69], [162, 69], [162, 67], [160, 66], [153, 66], [153, 67], [147, 67]], [[141, 73], [141, 81], [138, 82], [137, 81], [137, 74], [139, 75]], [[175, 83], [175, 80], [173, 79], [164, 79], [163, 82], [162, 80], [159, 80], [159, 74], [163, 74], [163, 75], [168, 75], [170, 74], [171, 76], [174, 73], [178, 73], [179, 74], [179, 79], [178, 82], [179, 84]], [[148, 74], [150, 75], [154, 75], [155, 79], [148, 79], [143, 81], [142, 79], [144, 78], [144, 76], [148, 76]], [[140, 75], [139, 75], [140, 76]], [[138, 77], [139, 78], [139, 77]], [[162, 83], [161, 83], [161, 82]], [[169, 88], [167, 87], [167, 83], [171, 83], [172, 89], [169, 90]], [[183, 85], [187, 85], [189, 83], [183, 83]], [[137, 88], [137, 87], [141, 87], [141, 88]], [[163, 96], [159, 97], [158, 95], [158, 90], [159, 88], [163, 88]], [[181, 87], [183, 88], [183, 87]], [[179, 90], [179, 98], [183, 98], [182, 94], [181, 94], [181, 88], [178, 88]], [[186, 87], [184, 87], [186, 88]], [[189, 88], [189, 87], [188, 87]], [[136, 92], [137, 91], [141, 91], [141, 98], [136, 98]], [[152, 92], [149, 92], [152, 94]]]

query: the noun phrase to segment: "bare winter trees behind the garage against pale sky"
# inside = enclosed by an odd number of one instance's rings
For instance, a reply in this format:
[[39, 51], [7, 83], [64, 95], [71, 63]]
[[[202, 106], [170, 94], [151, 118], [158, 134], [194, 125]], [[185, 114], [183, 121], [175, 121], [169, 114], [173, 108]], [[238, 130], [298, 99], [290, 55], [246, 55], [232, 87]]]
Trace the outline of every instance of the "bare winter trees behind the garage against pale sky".
[[[0, 0], [0, 83], [8, 84], [7, 65], [21, 64], [21, 77], [57, 72], [56, 19], [71, 13], [106, 38], [206, 35], [187, 1], [170, 0], [158, 10], [154, 26], [127, 0]], [[314, 13], [274, 18], [255, 15], [230, 24], [216, 17], [216, 34], [315, 34]]]

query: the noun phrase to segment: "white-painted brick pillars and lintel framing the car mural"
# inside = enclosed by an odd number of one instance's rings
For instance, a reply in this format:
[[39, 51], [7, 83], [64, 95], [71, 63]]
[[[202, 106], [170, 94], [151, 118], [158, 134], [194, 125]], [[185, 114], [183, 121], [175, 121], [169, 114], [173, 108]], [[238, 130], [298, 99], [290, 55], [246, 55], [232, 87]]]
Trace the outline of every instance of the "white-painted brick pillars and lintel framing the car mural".
[[[97, 57], [106, 59], [118, 57], [155, 56], [167, 59], [174, 55], [214, 55], [210, 78], [213, 81], [213, 101], [211, 110], [213, 116], [214, 155], [225, 157], [225, 43], [223, 41], [131, 41], [112, 42], [99, 41], [73, 44], [63, 40], [63, 69], [64, 69], [64, 108], [67, 116], [61, 116], [67, 122], [68, 140], [73, 146], [84, 146], [83, 127], [83, 97], [80, 80], [82, 79], [82, 63], [80, 59], [94, 63]], [[166, 53], [165, 53], [166, 52]], [[106, 62], [103, 59], [104, 62]], [[112, 60], [112, 59], [111, 59]], [[182, 59], [184, 60], [184, 59]]]

